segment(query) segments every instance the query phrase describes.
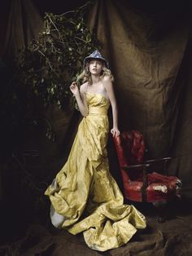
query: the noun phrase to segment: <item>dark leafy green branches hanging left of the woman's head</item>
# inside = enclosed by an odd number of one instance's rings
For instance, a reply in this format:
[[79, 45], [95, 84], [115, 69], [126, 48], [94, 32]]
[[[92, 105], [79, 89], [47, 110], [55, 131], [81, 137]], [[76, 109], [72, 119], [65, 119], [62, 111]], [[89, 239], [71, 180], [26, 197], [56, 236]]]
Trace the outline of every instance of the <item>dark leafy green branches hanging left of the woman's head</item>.
[[[72, 98], [69, 86], [73, 77], [82, 72], [85, 56], [100, 48], [98, 39], [86, 26], [85, 14], [91, 4], [87, 2], [62, 15], [46, 12], [39, 38], [20, 51], [20, 82], [41, 99], [45, 108], [50, 104], [66, 107]], [[75, 101], [73, 106], [77, 108]]]

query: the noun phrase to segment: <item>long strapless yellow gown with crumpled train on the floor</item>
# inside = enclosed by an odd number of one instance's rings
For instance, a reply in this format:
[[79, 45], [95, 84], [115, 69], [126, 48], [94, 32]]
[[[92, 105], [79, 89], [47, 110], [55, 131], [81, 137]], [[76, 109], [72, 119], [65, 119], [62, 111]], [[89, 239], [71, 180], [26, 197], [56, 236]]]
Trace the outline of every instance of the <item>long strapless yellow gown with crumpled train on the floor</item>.
[[[105, 251], [124, 245], [145, 217], [124, 198], [112, 178], [107, 159], [108, 99], [86, 93], [89, 114], [78, 127], [68, 161], [46, 189], [55, 227], [83, 232], [91, 249]], [[56, 221], [55, 221], [56, 219]]]

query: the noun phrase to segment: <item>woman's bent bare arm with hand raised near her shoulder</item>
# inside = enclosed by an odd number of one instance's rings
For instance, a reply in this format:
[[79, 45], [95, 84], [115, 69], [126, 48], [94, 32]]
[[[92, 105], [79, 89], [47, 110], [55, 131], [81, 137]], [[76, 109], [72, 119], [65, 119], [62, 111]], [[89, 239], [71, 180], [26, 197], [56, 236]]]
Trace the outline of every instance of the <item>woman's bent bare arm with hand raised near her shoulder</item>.
[[72, 82], [70, 90], [72, 91], [72, 94], [76, 97], [76, 103], [81, 112], [81, 115], [83, 117], [86, 117], [88, 115], [88, 107], [85, 99], [84, 85], [85, 84], [83, 84], [79, 90], [78, 86], [76, 85], [76, 82]]

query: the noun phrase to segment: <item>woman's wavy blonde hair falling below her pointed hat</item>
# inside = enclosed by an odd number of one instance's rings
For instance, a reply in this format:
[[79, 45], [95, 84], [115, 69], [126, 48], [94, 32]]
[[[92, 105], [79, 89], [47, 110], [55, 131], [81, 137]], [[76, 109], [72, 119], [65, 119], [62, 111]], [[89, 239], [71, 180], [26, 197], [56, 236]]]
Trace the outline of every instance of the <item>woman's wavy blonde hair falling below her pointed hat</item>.
[[[111, 78], [111, 82], [114, 81], [114, 77], [111, 73], [111, 70], [109, 68], [107, 68], [105, 66], [105, 64], [103, 64], [103, 68], [102, 68], [102, 72], [100, 74], [100, 77], [103, 79], [103, 77], [108, 76]], [[82, 82], [89, 82], [89, 84], [92, 84], [92, 79], [91, 79], [91, 75], [89, 72], [89, 61], [86, 63], [85, 68], [83, 70], [83, 72], [76, 77], [76, 82], [78, 83], [80, 80], [82, 80]]]

